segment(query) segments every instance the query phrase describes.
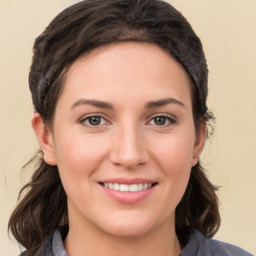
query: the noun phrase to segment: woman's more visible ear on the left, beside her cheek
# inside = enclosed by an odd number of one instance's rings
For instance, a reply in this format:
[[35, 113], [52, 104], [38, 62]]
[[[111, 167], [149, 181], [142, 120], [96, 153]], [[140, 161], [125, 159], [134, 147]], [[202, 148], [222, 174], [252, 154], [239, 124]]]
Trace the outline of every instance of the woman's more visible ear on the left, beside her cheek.
[[37, 141], [43, 152], [44, 161], [50, 165], [56, 165], [54, 144], [51, 131], [42, 121], [39, 113], [35, 113], [32, 118], [32, 127], [34, 129]]

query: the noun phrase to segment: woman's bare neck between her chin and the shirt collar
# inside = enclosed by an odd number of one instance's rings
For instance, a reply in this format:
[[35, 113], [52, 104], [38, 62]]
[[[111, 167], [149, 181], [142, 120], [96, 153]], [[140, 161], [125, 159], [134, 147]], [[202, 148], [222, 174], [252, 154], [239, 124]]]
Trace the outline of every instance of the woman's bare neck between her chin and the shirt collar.
[[171, 222], [139, 236], [116, 236], [89, 222], [78, 225], [69, 221], [64, 248], [68, 256], [177, 256], [181, 247]]

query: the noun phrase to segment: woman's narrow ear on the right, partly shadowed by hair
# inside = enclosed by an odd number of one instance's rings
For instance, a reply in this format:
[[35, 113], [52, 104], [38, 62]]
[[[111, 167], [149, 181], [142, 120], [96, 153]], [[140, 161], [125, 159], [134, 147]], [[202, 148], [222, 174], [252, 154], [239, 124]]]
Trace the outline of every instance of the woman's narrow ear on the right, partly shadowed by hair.
[[199, 124], [199, 129], [195, 137], [191, 166], [194, 166], [199, 160], [199, 156], [204, 146], [206, 131], [206, 121], [202, 120]]

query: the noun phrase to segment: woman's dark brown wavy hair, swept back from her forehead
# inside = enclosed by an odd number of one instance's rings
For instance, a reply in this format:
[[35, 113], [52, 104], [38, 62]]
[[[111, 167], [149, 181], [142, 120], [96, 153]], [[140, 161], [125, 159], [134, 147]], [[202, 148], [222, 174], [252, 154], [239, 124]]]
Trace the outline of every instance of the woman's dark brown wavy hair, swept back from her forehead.
[[[206, 106], [202, 44], [179, 11], [161, 0], [83, 0], [60, 12], [34, 42], [29, 88], [45, 125], [52, 124], [69, 66], [85, 52], [121, 41], [151, 42], [169, 52], [190, 77], [195, 130], [202, 120], [214, 119]], [[27, 249], [25, 255], [37, 256], [45, 237], [68, 223], [67, 197], [57, 166], [48, 165], [40, 149], [29, 162], [35, 171], [19, 192], [8, 230]], [[212, 237], [220, 224], [216, 190], [197, 162], [175, 210], [176, 230], [189, 226]]]

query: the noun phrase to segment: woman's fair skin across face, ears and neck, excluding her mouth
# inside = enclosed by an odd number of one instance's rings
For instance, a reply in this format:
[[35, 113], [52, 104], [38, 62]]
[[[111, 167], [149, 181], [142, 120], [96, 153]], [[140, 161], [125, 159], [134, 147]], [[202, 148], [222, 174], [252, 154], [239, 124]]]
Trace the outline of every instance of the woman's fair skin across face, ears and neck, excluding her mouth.
[[[167, 98], [174, 102], [159, 105]], [[99, 125], [88, 115], [102, 116]], [[81, 56], [67, 71], [51, 128], [38, 113], [32, 126], [68, 197], [69, 256], [180, 253], [175, 207], [203, 148], [205, 122], [196, 136], [188, 75], [166, 51], [122, 42]], [[137, 177], [157, 183], [136, 203], [113, 199], [98, 183]]]

